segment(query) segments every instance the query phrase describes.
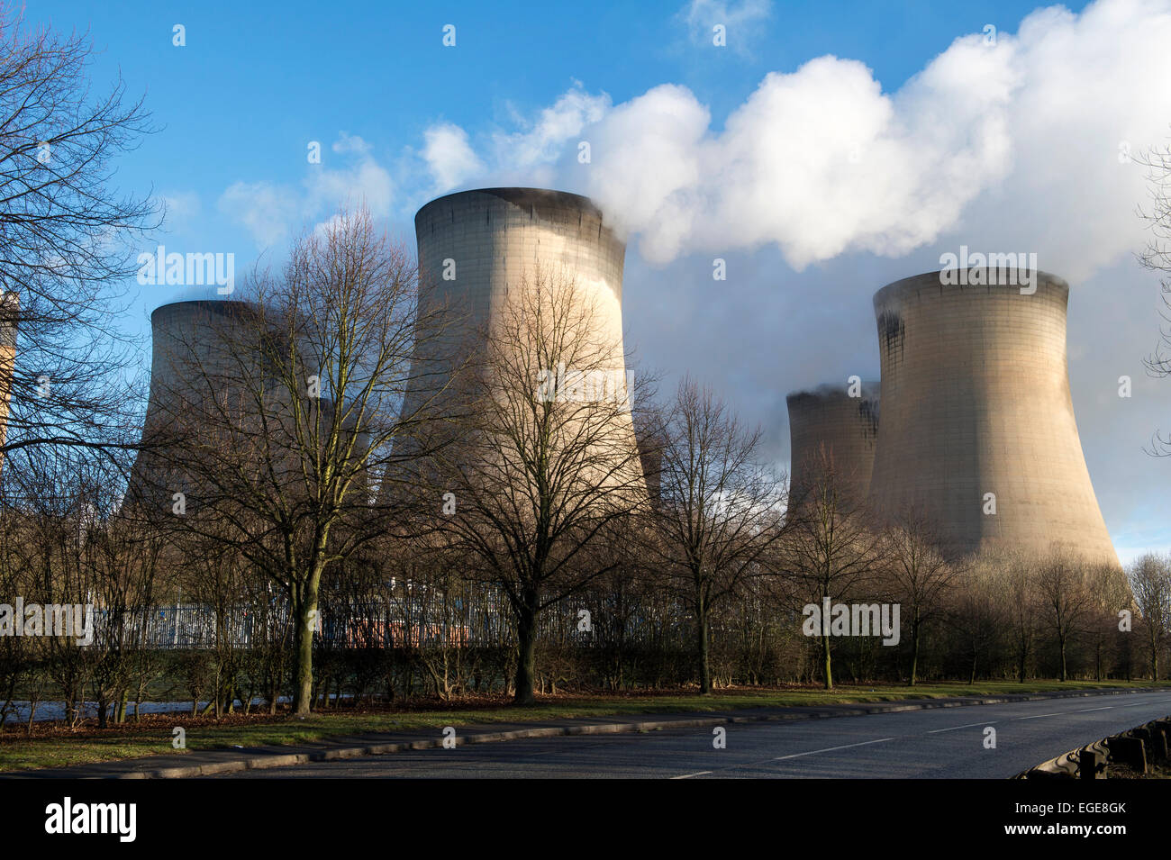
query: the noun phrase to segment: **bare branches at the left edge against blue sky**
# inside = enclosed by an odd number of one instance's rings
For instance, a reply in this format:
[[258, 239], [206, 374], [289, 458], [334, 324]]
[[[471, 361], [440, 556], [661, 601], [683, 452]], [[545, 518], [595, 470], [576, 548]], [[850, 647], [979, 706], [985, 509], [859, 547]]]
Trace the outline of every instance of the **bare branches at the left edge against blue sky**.
[[95, 97], [94, 49], [0, 9], [0, 329], [9, 405], [0, 454], [46, 443], [130, 448], [135, 351], [111, 324], [158, 207], [123, 194], [115, 161], [152, 128], [121, 80]]

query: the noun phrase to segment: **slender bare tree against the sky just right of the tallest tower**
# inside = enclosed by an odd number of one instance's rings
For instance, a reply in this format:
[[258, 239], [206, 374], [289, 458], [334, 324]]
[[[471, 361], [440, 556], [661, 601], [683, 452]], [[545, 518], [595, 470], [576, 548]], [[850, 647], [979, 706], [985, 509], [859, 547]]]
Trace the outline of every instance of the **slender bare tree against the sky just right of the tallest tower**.
[[648, 549], [655, 572], [691, 608], [707, 695], [712, 612], [765, 572], [783, 534], [782, 481], [761, 463], [760, 428], [742, 427], [711, 390], [685, 378], [667, 412]]

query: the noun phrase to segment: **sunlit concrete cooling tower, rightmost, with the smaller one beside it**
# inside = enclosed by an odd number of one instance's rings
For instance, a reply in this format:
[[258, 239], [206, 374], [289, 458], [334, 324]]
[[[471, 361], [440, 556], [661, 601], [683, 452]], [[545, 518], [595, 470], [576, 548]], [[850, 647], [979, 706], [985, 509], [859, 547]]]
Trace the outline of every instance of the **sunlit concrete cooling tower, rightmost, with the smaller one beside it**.
[[[1069, 285], [1035, 271], [1029, 294], [1025, 271], [967, 274], [971, 285], [931, 271], [875, 294], [875, 514], [926, 515], [951, 552], [1060, 546], [1117, 565], [1069, 394]], [[989, 274], [1007, 285], [972, 284]]]

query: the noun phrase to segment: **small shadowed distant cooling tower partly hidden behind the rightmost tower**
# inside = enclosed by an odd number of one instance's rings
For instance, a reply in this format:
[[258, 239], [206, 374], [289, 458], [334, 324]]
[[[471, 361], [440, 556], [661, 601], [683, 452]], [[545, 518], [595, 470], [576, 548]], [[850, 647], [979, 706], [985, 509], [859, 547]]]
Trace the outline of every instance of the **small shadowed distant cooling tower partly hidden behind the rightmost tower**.
[[789, 497], [799, 503], [819, 472], [833, 465], [847, 507], [865, 502], [878, 438], [878, 384], [822, 385], [789, 394]]

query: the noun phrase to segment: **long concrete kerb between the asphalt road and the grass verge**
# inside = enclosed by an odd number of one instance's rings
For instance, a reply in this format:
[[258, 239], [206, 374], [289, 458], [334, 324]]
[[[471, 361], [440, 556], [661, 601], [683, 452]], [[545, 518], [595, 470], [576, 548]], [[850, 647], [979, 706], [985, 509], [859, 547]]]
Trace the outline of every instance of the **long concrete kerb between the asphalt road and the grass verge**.
[[[778, 721], [801, 721], [801, 720], [827, 720], [840, 716], [862, 716], [867, 714], [896, 714], [911, 710], [931, 710], [936, 708], [959, 708], [968, 704], [1007, 704], [1012, 702], [1034, 702], [1046, 699], [1080, 699], [1103, 695], [1127, 695], [1134, 693], [1145, 693], [1146, 690], [1132, 689], [1094, 689], [1094, 690], [1062, 690], [1057, 693], [1030, 693], [1030, 694], [1006, 694], [999, 696], [957, 696], [953, 699], [925, 699], [916, 701], [900, 701], [890, 703], [843, 703], [835, 706], [821, 706], [804, 710], [803, 706], [790, 706], [786, 710], [760, 709], [753, 711], [728, 711], [717, 713], [701, 717], [686, 718], [655, 718], [615, 723], [587, 723], [573, 725], [540, 725], [532, 729], [509, 729], [505, 731], [479, 730], [467, 727], [465, 734], [452, 738], [458, 747], [480, 743], [506, 743], [508, 741], [527, 741], [545, 737], [566, 737], [577, 735], [618, 735], [644, 731], [660, 731], [664, 729], [700, 729], [715, 725], [727, 725], [735, 723], [778, 722]], [[328, 742], [328, 739], [326, 741]], [[347, 758], [362, 758], [365, 756], [384, 756], [406, 750], [439, 749], [444, 745], [444, 738], [426, 738], [420, 741], [403, 741], [382, 744], [363, 744], [356, 747], [336, 747], [326, 750], [311, 750], [306, 752], [266, 754], [262, 756], [242, 755], [221, 762], [192, 763], [190, 765], [178, 765], [169, 768], [157, 768], [155, 770], [128, 771], [112, 776], [115, 779], [184, 779], [191, 777], [219, 776], [224, 773], [235, 773], [244, 770], [268, 770], [272, 768], [287, 768], [297, 764], [310, 764], [315, 762], [333, 762]], [[133, 759], [125, 759], [128, 763]], [[107, 762], [107, 766], [115, 764]], [[101, 766], [101, 765], [95, 765]], [[36, 772], [8, 773], [4, 776], [34, 776]], [[98, 777], [100, 778], [100, 777]], [[108, 777], [110, 778], [110, 777]]]

